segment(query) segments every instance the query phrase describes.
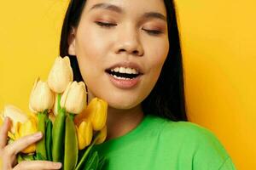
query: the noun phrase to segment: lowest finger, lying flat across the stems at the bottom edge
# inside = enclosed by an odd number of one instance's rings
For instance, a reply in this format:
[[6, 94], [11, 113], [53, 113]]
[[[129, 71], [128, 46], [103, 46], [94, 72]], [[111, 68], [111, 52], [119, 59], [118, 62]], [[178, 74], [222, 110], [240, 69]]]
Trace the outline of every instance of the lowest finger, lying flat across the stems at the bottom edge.
[[14, 170], [60, 169], [61, 163], [53, 161], [21, 161]]

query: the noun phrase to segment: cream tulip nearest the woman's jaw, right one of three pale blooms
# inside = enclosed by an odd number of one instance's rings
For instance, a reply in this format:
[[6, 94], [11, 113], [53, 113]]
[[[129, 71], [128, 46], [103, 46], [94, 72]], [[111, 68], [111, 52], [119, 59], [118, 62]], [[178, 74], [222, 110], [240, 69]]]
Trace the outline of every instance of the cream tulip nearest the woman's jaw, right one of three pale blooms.
[[67, 112], [79, 114], [86, 106], [86, 90], [84, 82], [72, 82], [61, 96], [61, 107]]

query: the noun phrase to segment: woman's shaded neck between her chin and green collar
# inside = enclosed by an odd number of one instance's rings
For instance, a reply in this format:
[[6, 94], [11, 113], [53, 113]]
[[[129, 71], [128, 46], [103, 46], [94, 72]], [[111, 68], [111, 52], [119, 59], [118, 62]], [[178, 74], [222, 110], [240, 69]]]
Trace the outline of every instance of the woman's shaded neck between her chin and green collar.
[[143, 110], [141, 105], [129, 110], [118, 110], [108, 107], [108, 139], [115, 139], [129, 133], [143, 120]]

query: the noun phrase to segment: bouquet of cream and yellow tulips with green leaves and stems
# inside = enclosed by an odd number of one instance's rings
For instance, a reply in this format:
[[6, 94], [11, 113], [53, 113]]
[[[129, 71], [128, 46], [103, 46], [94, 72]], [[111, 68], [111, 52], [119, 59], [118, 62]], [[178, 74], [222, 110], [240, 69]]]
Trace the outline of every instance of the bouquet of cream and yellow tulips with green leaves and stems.
[[99, 159], [94, 144], [107, 137], [108, 104], [98, 98], [87, 105], [84, 82], [73, 82], [73, 71], [68, 57], [57, 57], [47, 82], [39, 78], [34, 83], [26, 114], [13, 105], [6, 105], [0, 122], [9, 116], [12, 126], [9, 143], [28, 134], [42, 132], [44, 137], [31, 144], [17, 160], [59, 161], [64, 170], [98, 170], [104, 159]]

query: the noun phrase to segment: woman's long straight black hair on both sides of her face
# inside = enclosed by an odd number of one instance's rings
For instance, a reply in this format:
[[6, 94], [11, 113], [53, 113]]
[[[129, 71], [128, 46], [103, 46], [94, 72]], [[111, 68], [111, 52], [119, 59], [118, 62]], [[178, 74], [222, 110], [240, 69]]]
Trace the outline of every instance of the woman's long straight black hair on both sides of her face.
[[[68, 54], [68, 34], [79, 25], [86, 0], [71, 0], [61, 30], [60, 55], [69, 56], [74, 81], [83, 81], [75, 56]], [[144, 114], [152, 114], [172, 121], [187, 121], [183, 83], [183, 60], [180, 48], [177, 16], [172, 0], [165, 0], [168, 23], [169, 53], [153, 90], [143, 100]]]

